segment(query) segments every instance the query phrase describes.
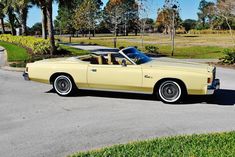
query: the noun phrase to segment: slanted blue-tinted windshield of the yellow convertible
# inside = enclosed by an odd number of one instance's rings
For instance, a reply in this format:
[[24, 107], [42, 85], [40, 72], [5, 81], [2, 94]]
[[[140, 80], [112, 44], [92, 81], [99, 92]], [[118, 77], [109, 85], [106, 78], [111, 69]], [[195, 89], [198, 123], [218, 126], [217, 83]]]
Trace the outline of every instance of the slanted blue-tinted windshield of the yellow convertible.
[[140, 52], [135, 48], [125, 49], [123, 50], [123, 53], [138, 65], [151, 61], [151, 59], [148, 56], [146, 56], [144, 53]]

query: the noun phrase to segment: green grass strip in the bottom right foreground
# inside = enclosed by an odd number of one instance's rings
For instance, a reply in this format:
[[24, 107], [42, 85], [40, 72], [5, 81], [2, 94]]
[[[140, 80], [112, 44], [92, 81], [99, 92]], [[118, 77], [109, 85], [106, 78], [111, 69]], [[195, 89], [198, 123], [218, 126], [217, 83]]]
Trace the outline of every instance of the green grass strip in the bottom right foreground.
[[176, 136], [115, 145], [69, 157], [234, 157], [235, 132]]

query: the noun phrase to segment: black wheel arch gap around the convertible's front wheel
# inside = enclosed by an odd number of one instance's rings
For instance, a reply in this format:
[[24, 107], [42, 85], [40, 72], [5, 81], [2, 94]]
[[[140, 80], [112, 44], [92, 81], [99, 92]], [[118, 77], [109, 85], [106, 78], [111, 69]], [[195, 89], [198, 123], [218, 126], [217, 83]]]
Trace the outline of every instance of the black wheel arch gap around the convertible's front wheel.
[[175, 82], [179, 83], [179, 85], [182, 88], [184, 94], [188, 94], [187, 87], [186, 87], [186, 84], [184, 83], [184, 81], [182, 81], [180, 79], [177, 79], [177, 78], [162, 78], [161, 80], [157, 81], [156, 84], [154, 85], [154, 88], [153, 88], [153, 94], [157, 92], [157, 90], [160, 87], [161, 83], [163, 83], [165, 81], [175, 81]]

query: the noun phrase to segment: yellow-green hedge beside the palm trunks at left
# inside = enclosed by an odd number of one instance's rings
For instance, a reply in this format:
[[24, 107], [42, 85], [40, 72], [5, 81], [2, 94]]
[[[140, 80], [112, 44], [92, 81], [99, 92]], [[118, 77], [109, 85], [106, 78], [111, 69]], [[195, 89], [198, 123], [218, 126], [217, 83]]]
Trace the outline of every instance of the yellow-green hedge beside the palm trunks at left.
[[12, 36], [9, 34], [0, 35], [0, 40], [14, 43], [32, 50], [34, 54], [47, 54], [50, 50], [49, 40], [32, 36]]

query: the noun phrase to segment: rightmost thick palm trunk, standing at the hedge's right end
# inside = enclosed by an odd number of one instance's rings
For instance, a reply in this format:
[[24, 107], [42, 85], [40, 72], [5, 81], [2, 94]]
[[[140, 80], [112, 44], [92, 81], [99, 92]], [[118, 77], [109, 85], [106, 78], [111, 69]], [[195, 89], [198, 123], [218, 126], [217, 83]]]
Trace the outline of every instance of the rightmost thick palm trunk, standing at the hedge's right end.
[[55, 37], [54, 37], [54, 27], [53, 27], [53, 18], [52, 18], [52, 0], [48, 0], [47, 7], [47, 27], [48, 27], [48, 35], [51, 44], [51, 55], [56, 53], [56, 46], [55, 46]]

